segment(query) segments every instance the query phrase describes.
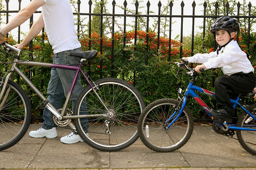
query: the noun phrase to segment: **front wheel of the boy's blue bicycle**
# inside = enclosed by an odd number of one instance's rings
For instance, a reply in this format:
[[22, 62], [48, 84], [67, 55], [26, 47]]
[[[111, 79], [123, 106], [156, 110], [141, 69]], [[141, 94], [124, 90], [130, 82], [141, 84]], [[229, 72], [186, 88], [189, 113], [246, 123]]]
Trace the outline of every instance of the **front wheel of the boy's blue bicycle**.
[[174, 99], [159, 99], [150, 103], [139, 118], [139, 137], [144, 145], [156, 152], [171, 152], [181, 148], [190, 139], [194, 120], [190, 110], [185, 107], [181, 116], [170, 126], [174, 120], [167, 119], [179, 107], [179, 101]]

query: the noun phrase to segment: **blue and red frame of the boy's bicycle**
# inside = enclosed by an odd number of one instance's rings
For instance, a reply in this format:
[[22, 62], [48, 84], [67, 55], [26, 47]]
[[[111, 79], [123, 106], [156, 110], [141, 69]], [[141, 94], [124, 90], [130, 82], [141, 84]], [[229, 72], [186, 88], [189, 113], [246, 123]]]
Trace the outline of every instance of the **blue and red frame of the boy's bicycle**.
[[[212, 118], [213, 120], [213, 116], [210, 113], [210, 108], [208, 107], [207, 104], [204, 103], [204, 101], [198, 96], [198, 94], [196, 94], [197, 92], [202, 92], [203, 94], [215, 97], [215, 93], [205, 90], [203, 88], [200, 88], [198, 86], [194, 86], [194, 82], [190, 82], [188, 84], [188, 87], [186, 89], [186, 92], [184, 93], [184, 97], [182, 98], [182, 107], [179, 109], [177, 108], [176, 111], [173, 113], [173, 115], [166, 121], [168, 122], [169, 120], [171, 120], [171, 118], [173, 118], [177, 112], [178, 115], [177, 117], [167, 126], [168, 128], [170, 128], [170, 126], [179, 118], [179, 116], [181, 116], [181, 113], [183, 112], [183, 109], [186, 107], [187, 104], [187, 97], [191, 96], [203, 109], [204, 111]], [[256, 117], [253, 116], [250, 112], [247, 111], [247, 109], [244, 108], [244, 106], [242, 106], [238, 101], [240, 101], [240, 97], [238, 96], [236, 100], [230, 99], [231, 103], [233, 104], [233, 107], [240, 107], [243, 111], [245, 111], [247, 114], [250, 115], [251, 118], [253, 118], [254, 120], [256, 120]], [[179, 109], [179, 110], [178, 110]], [[223, 126], [220, 124], [220, 122], [217, 122], [216, 120], [214, 120], [220, 127]], [[241, 127], [237, 127], [236, 125], [227, 125], [229, 129], [232, 130], [251, 130], [251, 131], [256, 131], [256, 129], [248, 129], [248, 128], [241, 128]], [[246, 127], [256, 127], [256, 125], [248, 125]]]

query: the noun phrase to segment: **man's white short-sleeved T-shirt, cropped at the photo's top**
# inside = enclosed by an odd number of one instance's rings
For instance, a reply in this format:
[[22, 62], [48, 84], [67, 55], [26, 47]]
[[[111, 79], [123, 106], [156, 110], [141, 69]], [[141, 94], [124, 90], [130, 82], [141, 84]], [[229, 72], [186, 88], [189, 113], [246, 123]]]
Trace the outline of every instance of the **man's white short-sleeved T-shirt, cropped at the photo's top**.
[[69, 0], [44, 0], [42, 14], [53, 53], [81, 47]]

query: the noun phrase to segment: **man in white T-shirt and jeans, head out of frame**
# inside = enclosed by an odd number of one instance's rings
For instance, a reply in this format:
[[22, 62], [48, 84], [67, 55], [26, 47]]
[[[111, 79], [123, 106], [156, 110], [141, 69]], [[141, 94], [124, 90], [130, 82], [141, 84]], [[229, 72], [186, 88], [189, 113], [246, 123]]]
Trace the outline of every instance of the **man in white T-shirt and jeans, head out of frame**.
[[[79, 58], [69, 56], [70, 50], [81, 51], [81, 44], [78, 41], [74, 28], [74, 18], [69, 0], [32, 0], [26, 7], [18, 12], [18, 14], [0, 30], [0, 42], [3, 42], [5, 35], [12, 29], [18, 27], [31, 17], [37, 8], [42, 7], [39, 18], [33, 23], [28, 35], [24, 40], [15, 45], [16, 48], [22, 49], [28, 44], [40, 31], [45, 27], [48, 39], [53, 49], [53, 63], [62, 65], [77, 65]], [[74, 71], [63, 69], [52, 69], [51, 79], [48, 84], [48, 100], [52, 105], [59, 109], [62, 107], [64, 95], [68, 94], [71, 86]], [[75, 99], [83, 90], [81, 79], [79, 78], [74, 87], [72, 100], [73, 105]], [[55, 138], [57, 137], [56, 125], [53, 122], [53, 114], [45, 109], [43, 113], [44, 122], [40, 129], [30, 131], [33, 138]], [[63, 143], [82, 142], [81, 137], [72, 131], [69, 135], [62, 137]]]

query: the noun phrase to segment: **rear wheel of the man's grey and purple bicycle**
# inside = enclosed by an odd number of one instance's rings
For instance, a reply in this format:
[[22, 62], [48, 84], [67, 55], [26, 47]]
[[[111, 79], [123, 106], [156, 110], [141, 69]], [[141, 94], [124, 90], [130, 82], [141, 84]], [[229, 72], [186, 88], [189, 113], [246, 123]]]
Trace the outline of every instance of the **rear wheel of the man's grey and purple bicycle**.
[[[132, 145], [139, 138], [137, 123], [145, 108], [145, 101], [140, 92], [131, 84], [116, 78], [96, 80], [93, 87], [107, 108], [111, 109], [112, 117], [74, 119], [78, 134], [88, 145], [100, 151], [119, 151]], [[107, 113], [106, 109], [92, 88], [87, 86], [77, 99], [74, 115], [102, 113]], [[83, 130], [83, 126], [87, 126], [87, 130]]]

